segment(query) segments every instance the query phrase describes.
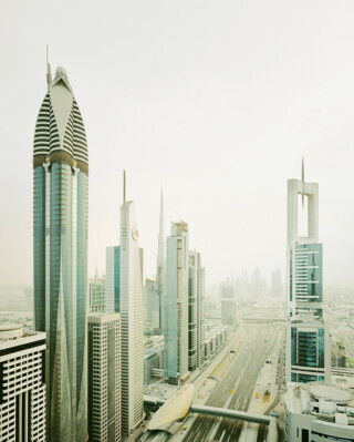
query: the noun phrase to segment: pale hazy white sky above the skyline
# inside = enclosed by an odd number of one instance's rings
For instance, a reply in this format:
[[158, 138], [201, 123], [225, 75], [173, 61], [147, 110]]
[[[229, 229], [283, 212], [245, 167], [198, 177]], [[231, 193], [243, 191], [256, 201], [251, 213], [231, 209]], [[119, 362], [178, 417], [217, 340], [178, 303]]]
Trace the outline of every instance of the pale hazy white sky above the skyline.
[[2, 1], [0, 285], [32, 284], [32, 150], [66, 69], [90, 155], [88, 274], [119, 241], [122, 169], [145, 275], [159, 193], [207, 284], [284, 268], [287, 179], [320, 183], [324, 282], [354, 284], [354, 1]]

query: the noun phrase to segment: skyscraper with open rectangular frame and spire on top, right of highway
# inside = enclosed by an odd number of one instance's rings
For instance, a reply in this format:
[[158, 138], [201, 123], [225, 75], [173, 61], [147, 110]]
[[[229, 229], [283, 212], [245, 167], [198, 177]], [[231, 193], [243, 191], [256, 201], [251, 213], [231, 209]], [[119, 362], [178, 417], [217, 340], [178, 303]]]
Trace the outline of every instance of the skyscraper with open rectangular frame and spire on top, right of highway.
[[[308, 232], [299, 235], [299, 203], [308, 207]], [[308, 203], [308, 204], [304, 204]], [[323, 320], [319, 184], [288, 181], [287, 382], [329, 382], [330, 333]]]

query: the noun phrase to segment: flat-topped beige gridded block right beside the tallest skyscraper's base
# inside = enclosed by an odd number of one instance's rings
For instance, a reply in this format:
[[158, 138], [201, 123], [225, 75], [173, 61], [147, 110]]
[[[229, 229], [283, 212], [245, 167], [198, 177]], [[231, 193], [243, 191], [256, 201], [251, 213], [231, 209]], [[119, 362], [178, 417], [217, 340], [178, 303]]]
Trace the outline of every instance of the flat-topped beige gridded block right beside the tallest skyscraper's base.
[[88, 436], [121, 441], [121, 316], [88, 315]]

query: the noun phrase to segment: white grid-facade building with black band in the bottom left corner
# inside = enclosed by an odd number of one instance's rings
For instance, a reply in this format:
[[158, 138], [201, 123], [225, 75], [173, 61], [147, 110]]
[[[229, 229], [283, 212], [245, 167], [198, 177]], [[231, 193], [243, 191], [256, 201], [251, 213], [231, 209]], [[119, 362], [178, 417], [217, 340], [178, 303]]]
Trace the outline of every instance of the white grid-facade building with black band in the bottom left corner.
[[0, 325], [0, 441], [45, 441], [45, 333]]

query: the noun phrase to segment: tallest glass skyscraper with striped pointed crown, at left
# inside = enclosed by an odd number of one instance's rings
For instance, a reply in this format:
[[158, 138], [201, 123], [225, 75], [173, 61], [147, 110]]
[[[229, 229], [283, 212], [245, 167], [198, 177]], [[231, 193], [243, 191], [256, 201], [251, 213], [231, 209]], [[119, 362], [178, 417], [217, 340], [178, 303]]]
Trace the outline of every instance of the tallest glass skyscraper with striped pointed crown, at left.
[[87, 185], [82, 116], [65, 70], [52, 81], [48, 65], [33, 150], [33, 276], [52, 442], [87, 440]]

